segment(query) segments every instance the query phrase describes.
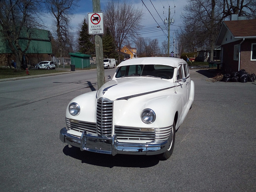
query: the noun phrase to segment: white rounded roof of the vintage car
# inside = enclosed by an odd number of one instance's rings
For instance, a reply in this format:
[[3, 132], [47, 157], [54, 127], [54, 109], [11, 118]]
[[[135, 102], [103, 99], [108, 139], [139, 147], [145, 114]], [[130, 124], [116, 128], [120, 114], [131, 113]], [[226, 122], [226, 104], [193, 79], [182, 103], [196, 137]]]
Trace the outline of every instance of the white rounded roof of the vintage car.
[[125, 65], [139, 65], [139, 64], [158, 64], [158, 65], [168, 65], [172, 67], [178, 67], [179, 63], [186, 63], [184, 59], [176, 58], [176, 57], [140, 57], [134, 59], [127, 59], [122, 61], [118, 67]]

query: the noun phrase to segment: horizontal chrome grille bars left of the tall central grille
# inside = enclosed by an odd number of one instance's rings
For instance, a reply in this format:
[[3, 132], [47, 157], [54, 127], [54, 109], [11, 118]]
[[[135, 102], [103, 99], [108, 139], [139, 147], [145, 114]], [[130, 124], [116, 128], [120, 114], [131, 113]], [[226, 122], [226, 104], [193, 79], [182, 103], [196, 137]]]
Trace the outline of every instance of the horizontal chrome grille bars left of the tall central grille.
[[96, 131], [96, 123], [89, 123], [85, 121], [78, 121], [74, 119], [68, 119], [66, 118], [66, 125], [68, 128], [73, 129], [75, 131], [84, 132], [90, 134], [97, 134]]

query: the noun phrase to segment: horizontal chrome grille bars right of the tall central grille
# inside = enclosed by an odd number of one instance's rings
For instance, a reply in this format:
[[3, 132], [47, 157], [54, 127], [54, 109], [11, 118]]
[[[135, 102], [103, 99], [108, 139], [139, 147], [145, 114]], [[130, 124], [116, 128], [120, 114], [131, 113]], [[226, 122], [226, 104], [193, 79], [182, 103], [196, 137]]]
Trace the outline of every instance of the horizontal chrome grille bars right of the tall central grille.
[[115, 126], [117, 140], [155, 141], [154, 131], [140, 131], [139, 127]]

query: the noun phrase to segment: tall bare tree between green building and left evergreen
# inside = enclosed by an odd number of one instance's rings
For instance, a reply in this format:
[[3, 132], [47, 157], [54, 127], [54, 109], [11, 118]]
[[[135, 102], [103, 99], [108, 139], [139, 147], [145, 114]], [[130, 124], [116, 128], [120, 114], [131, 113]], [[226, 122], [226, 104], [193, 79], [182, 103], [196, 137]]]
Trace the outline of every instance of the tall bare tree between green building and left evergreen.
[[54, 16], [54, 26], [59, 43], [59, 55], [63, 57], [72, 50], [70, 35], [70, 18], [72, 17], [72, 6], [77, 0], [47, 0], [46, 4]]

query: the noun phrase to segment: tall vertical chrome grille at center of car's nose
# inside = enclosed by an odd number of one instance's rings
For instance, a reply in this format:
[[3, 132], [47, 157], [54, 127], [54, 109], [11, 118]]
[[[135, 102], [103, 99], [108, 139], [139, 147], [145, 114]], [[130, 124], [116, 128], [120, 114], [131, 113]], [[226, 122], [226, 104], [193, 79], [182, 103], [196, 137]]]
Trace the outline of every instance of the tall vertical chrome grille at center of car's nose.
[[98, 136], [111, 137], [113, 119], [113, 101], [100, 98], [97, 101], [97, 132]]

